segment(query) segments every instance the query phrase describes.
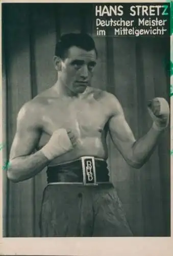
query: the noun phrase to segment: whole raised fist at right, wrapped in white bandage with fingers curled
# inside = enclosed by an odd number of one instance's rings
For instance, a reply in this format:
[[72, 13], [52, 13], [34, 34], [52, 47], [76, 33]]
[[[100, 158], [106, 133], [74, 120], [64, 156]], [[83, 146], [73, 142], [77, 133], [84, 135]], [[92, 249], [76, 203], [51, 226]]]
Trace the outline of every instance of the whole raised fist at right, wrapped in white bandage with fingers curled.
[[148, 103], [148, 110], [157, 131], [164, 130], [169, 123], [169, 104], [164, 98], [154, 98]]

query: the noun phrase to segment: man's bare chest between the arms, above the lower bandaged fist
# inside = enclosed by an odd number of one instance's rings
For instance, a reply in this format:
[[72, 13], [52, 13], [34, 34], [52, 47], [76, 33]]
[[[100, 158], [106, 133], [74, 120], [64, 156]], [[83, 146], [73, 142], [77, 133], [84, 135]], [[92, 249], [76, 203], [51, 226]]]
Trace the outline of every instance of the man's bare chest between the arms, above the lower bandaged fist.
[[106, 106], [94, 99], [50, 100], [44, 109], [42, 127], [49, 135], [64, 128], [80, 137], [94, 137], [103, 131], [108, 118]]

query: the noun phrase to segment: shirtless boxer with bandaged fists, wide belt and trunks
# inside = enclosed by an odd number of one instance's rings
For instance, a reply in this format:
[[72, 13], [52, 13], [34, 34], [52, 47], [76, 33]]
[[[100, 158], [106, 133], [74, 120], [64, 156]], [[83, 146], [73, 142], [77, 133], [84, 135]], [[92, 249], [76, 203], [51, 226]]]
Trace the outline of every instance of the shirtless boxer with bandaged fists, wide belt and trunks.
[[56, 84], [24, 104], [17, 117], [8, 178], [27, 180], [47, 166], [43, 237], [133, 236], [109, 180], [107, 132], [127, 163], [140, 168], [168, 125], [168, 103], [155, 98], [148, 106], [153, 125], [135, 140], [117, 98], [91, 87], [96, 61], [89, 35], [62, 36]]

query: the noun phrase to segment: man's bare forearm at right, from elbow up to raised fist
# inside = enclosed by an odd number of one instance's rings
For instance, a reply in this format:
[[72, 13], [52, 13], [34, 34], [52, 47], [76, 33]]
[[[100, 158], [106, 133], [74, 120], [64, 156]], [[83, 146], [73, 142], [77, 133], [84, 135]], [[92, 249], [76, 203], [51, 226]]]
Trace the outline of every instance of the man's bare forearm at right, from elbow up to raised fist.
[[134, 167], [141, 167], [150, 158], [160, 134], [161, 131], [155, 130], [152, 125], [149, 132], [133, 144], [129, 159]]

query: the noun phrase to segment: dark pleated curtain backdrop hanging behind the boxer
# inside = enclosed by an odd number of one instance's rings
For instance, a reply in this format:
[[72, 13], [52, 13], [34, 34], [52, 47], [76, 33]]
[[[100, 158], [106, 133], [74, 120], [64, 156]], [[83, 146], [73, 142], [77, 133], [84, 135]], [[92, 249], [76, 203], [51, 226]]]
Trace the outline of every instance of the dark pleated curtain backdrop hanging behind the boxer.
[[[97, 37], [89, 4], [3, 4], [3, 122], [7, 157], [19, 109], [57, 79], [53, 66], [56, 40], [62, 33], [80, 31], [93, 36], [98, 50], [92, 86], [116, 95], [136, 138], [152, 124], [147, 100], [169, 99], [169, 40]], [[141, 169], [134, 169], [108, 137], [111, 178], [135, 236], [170, 236], [169, 143], [168, 129], [151, 159]], [[3, 183], [4, 236], [38, 237], [45, 170], [16, 184], [7, 180], [3, 170]]]

